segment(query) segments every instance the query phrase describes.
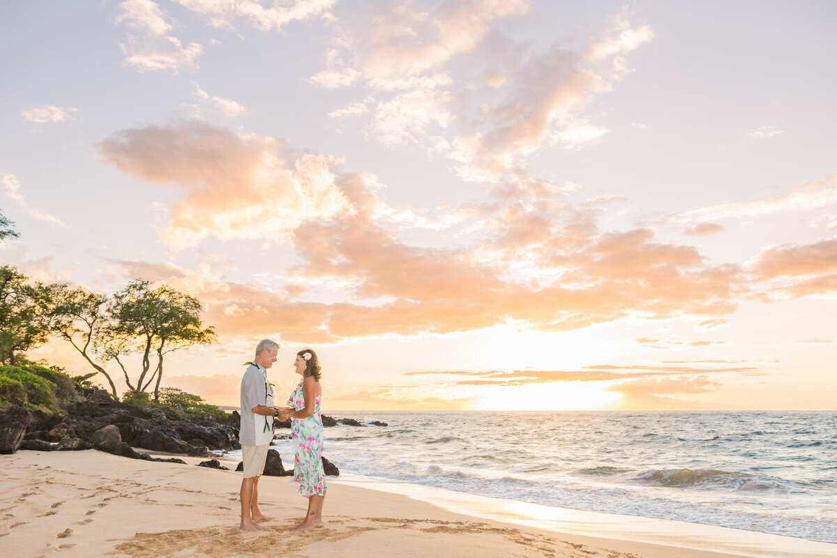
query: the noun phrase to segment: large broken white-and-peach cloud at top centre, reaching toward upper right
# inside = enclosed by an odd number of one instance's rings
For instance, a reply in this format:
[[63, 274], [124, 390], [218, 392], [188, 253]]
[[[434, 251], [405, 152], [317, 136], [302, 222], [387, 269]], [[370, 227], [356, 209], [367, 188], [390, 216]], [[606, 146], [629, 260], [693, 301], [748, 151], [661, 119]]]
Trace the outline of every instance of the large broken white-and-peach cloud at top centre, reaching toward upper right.
[[530, 10], [522, 0], [448, 0], [362, 13], [340, 27], [339, 48], [310, 81], [371, 89], [369, 136], [446, 156], [465, 180], [499, 182], [544, 146], [578, 149], [606, 135], [583, 112], [629, 71], [624, 54], [653, 37], [619, 15], [573, 53], [497, 28]]

